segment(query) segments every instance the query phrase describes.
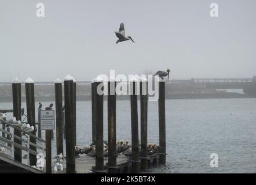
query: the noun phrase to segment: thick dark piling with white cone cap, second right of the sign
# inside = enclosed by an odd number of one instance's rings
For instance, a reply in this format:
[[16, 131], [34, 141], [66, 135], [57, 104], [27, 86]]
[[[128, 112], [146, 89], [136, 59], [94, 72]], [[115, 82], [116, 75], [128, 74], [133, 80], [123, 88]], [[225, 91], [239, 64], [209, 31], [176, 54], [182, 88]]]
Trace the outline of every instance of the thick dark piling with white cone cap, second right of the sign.
[[75, 173], [74, 84], [70, 75], [64, 79], [64, 99], [67, 173]]

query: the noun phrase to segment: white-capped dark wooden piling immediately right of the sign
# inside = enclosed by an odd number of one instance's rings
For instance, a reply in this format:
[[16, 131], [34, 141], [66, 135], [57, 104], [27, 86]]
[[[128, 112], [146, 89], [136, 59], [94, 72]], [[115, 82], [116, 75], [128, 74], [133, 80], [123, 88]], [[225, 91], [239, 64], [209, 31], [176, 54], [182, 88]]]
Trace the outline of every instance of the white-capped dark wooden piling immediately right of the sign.
[[60, 79], [54, 81], [55, 106], [56, 106], [56, 148], [57, 154], [63, 154], [63, 98], [62, 82]]

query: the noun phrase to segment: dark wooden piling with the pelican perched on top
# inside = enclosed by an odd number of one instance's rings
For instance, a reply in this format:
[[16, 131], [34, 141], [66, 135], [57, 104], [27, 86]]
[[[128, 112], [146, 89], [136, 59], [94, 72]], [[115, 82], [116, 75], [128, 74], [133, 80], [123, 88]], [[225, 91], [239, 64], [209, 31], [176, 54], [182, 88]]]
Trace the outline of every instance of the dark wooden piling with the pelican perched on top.
[[166, 165], [166, 128], [165, 128], [165, 81], [159, 82], [159, 99], [158, 99], [158, 115], [159, 115], [159, 164]]

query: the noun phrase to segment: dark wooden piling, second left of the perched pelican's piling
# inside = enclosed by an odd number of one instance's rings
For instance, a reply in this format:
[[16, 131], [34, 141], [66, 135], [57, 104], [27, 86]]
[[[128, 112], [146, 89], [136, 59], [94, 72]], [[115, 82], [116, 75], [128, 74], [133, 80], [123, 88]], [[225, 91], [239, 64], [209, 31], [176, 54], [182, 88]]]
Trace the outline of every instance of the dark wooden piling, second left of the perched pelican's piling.
[[131, 99], [131, 172], [139, 172], [139, 149], [138, 149], [138, 99], [137, 79], [130, 79]]

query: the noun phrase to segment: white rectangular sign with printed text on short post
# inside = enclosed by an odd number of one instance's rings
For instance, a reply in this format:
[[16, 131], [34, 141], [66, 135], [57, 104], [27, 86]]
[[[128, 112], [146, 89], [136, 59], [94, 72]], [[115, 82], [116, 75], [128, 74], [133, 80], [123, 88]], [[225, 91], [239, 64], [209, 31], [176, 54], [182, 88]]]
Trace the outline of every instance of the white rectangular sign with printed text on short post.
[[41, 110], [41, 129], [54, 129], [54, 110]]

